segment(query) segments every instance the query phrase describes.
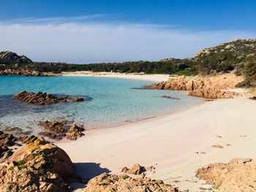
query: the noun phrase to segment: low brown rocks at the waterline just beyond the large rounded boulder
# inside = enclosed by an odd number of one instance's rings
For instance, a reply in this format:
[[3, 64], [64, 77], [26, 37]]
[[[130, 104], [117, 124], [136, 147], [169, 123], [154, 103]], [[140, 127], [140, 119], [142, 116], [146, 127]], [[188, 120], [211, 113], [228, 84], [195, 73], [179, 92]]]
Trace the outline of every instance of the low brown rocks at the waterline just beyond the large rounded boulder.
[[67, 120], [61, 122], [56, 120], [40, 122], [39, 126], [44, 127], [46, 130], [45, 132], [39, 133], [40, 135], [56, 140], [63, 139], [64, 137], [67, 137], [69, 140], [76, 140], [79, 137], [83, 137], [83, 131], [85, 131], [83, 127], [72, 124]]

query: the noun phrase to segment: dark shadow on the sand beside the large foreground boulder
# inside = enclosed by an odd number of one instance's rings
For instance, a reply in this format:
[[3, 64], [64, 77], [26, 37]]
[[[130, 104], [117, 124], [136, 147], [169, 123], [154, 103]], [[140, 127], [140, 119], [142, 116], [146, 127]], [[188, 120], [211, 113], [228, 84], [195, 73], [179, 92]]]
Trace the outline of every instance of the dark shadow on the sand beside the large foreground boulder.
[[100, 164], [96, 163], [75, 163], [76, 174], [83, 178], [83, 183], [72, 183], [72, 188], [78, 190], [85, 188], [85, 184], [93, 177], [97, 177], [104, 172], [109, 173], [110, 170], [102, 168]]

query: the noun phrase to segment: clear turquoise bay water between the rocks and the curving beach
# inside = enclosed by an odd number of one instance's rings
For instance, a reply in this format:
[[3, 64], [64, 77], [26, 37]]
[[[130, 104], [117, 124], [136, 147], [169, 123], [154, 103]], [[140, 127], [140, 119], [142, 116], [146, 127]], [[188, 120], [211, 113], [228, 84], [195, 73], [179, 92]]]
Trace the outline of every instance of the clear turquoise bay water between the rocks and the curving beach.
[[[145, 90], [152, 82], [104, 77], [0, 77], [0, 128], [18, 127], [39, 131], [41, 120], [74, 120], [86, 128], [114, 126], [129, 120], [150, 118], [178, 110], [201, 99], [178, 91]], [[20, 91], [42, 91], [69, 96], [88, 96], [83, 102], [45, 106], [23, 104], [12, 99]], [[163, 95], [180, 100], [163, 99]]]

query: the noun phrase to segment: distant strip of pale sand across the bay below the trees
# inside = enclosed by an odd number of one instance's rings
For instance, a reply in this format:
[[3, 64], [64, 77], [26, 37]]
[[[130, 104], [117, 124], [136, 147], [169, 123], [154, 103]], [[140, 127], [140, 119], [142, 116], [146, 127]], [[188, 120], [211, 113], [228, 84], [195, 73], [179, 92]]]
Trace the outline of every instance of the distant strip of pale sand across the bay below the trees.
[[62, 76], [78, 76], [78, 77], [111, 77], [111, 78], [123, 78], [130, 80], [145, 80], [151, 82], [166, 81], [170, 78], [169, 74], [125, 74], [114, 72], [62, 72]]

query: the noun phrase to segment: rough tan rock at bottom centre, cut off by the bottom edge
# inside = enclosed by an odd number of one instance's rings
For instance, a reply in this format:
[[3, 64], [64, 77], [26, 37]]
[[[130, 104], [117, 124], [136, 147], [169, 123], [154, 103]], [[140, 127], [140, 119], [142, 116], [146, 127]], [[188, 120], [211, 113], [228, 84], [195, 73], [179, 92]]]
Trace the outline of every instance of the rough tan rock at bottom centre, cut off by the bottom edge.
[[151, 180], [149, 177], [132, 178], [116, 174], [100, 174], [89, 181], [85, 192], [109, 192], [109, 191], [168, 191], [178, 192], [178, 188], [166, 185], [162, 180]]

